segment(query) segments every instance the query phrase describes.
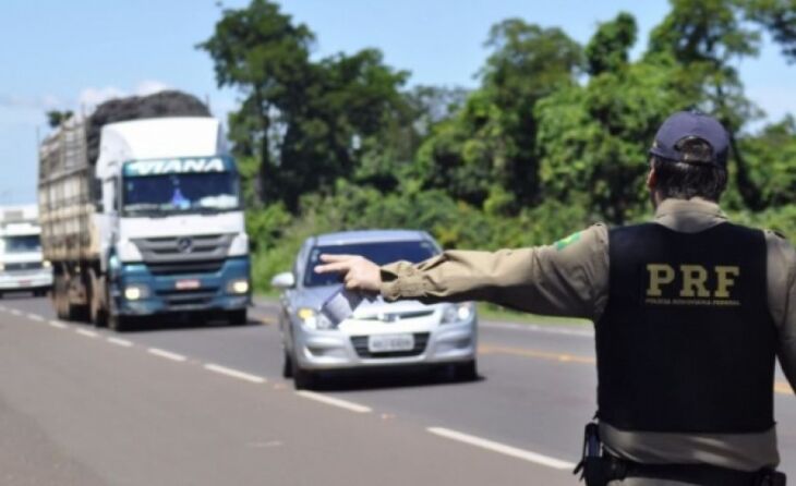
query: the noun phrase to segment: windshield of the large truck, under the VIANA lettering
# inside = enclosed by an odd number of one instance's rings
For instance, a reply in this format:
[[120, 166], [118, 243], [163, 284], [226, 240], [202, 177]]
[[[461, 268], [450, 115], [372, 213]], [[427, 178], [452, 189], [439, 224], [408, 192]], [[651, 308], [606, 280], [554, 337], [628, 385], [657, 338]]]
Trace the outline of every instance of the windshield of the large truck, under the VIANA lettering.
[[233, 172], [125, 177], [123, 186], [124, 216], [216, 212], [240, 207], [238, 175]]

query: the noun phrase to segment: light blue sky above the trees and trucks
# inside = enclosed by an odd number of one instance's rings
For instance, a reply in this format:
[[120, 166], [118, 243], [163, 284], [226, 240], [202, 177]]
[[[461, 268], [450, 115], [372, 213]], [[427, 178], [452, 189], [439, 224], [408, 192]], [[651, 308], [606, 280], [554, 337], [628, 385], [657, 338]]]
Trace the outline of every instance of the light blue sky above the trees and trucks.
[[[226, 0], [225, 7], [246, 1]], [[286, 0], [282, 10], [317, 36], [314, 56], [375, 47], [412, 73], [410, 84], [475, 85], [492, 24], [521, 17], [557, 25], [586, 42], [598, 22], [624, 10], [641, 29], [665, 15], [665, 0]], [[3, 0], [0, 9], [0, 204], [35, 202], [36, 136], [49, 109], [89, 110], [110, 97], [167, 87], [209, 99], [216, 114], [236, 107], [216, 88], [213, 65], [195, 45], [219, 19], [213, 0]], [[796, 65], [767, 42], [740, 64], [748, 96], [770, 119], [796, 113]]]

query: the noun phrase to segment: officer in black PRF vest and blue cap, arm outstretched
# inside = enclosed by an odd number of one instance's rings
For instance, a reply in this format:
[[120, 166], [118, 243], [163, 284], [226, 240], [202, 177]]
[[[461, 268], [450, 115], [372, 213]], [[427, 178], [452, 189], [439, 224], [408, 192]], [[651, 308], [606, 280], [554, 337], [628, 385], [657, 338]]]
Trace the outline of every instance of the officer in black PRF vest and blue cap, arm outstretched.
[[649, 223], [420, 264], [324, 255], [316, 271], [387, 301], [480, 300], [592, 319], [599, 426], [590, 441], [602, 447], [586, 461], [589, 484], [784, 484], [773, 473], [773, 380], [779, 354], [796, 384], [796, 253], [719, 208], [728, 145], [708, 116], [670, 117], [649, 151]]

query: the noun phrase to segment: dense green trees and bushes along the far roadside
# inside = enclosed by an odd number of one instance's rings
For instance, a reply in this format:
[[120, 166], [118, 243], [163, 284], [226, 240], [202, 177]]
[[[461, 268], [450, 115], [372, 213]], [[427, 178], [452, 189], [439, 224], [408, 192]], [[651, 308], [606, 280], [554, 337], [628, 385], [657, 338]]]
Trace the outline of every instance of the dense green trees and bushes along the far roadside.
[[752, 131], [763, 113], [736, 69], [763, 33], [796, 60], [794, 12], [796, 0], [671, 0], [637, 60], [627, 13], [586, 46], [509, 19], [487, 33], [468, 92], [407, 88], [375, 49], [315, 59], [310, 27], [269, 0], [222, 11], [198, 47], [241, 95], [230, 141], [257, 284], [324, 231], [420, 228], [447, 247], [497, 248], [649, 217], [647, 149], [684, 109], [732, 132], [732, 216], [796, 236], [796, 121]]

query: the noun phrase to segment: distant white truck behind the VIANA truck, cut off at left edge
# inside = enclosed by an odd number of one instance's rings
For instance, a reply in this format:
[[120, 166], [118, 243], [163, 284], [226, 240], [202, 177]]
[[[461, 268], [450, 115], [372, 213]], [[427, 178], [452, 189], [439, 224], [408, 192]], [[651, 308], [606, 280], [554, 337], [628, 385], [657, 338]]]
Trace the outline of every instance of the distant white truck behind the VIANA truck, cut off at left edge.
[[45, 295], [52, 287], [50, 263], [41, 256], [36, 205], [0, 208], [0, 296]]

